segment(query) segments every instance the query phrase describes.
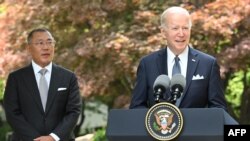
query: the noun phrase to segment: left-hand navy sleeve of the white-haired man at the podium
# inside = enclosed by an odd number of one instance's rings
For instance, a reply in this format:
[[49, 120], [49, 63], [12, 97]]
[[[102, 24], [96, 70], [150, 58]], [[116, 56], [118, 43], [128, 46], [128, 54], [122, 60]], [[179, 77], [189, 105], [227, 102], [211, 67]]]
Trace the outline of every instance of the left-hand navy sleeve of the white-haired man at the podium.
[[137, 69], [137, 78], [132, 92], [129, 108], [147, 108], [147, 79], [144, 61], [141, 60]]

